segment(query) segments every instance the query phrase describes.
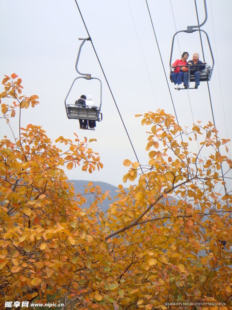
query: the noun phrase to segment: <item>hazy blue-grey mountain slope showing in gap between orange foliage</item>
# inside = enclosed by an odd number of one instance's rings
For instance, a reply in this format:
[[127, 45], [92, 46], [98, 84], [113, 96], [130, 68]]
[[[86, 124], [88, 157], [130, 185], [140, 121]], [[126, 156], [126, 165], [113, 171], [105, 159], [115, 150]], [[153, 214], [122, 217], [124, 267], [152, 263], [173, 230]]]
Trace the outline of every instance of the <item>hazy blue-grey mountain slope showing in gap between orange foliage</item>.
[[[85, 180], [69, 180], [70, 183], [73, 183], [73, 186], [75, 188], [76, 193], [84, 194], [84, 190], [86, 187], [84, 185], [88, 185], [89, 182], [93, 181], [85, 181]], [[109, 200], [108, 197], [105, 198], [105, 200], [102, 201], [102, 204], [99, 207], [100, 209], [105, 212], [106, 210], [109, 209], [109, 205], [115, 201], [114, 197], [118, 194], [115, 192], [118, 190], [118, 187], [113, 186], [109, 183], [106, 182], [101, 182], [101, 181], [94, 181], [94, 186], [100, 186], [101, 187], [101, 192], [105, 193], [106, 191], [110, 191], [109, 195], [112, 200]], [[87, 199], [86, 205], [83, 206], [84, 208], [88, 208], [90, 204], [94, 201], [94, 195], [91, 193], [85, 194], [85, 198]]]

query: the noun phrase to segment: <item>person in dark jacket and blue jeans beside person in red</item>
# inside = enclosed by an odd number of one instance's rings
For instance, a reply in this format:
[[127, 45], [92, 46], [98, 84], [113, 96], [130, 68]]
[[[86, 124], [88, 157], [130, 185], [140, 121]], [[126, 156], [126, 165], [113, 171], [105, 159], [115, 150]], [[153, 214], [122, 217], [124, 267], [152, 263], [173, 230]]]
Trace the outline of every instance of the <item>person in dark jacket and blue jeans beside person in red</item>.
[[[205, 68], [206, 62], [203, 63], [202, 61], [200, 61], [199, 54], [195, 53], [193, 54], [193, 59], [189, 60], [187, 64], [191, 65], [191, 67], [189, 67], [190, 74], [195, 75], [195, 88], [198, 88], [198, 86], [200, 85], [201, 70]], [[184, 73], [183, 83], [184, 88], [188, 88], [188, 72]]]

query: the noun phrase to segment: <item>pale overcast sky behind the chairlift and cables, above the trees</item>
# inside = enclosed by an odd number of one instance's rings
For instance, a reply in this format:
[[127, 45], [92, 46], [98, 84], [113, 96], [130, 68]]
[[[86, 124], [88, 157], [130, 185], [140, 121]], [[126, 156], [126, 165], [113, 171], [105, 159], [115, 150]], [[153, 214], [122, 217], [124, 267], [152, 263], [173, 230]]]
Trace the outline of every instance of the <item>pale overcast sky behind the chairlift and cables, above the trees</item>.
[[[221, 138], [232, 138], [232, 81], [228, 69], [232, 50], [232, 1], [206, 2], [208, 20], [202, 29], [208, 33], [215, 60], [209, 82], [215, 124]], [[204, 2], [197, 0], [196, 3], [201, 23]], [[156, 111], [157, 108], [174, 114], [146, 1], [79, 0], [78, 4], [139, 161], [146, 164], [148, 127], [141, 127], [141, 118], [134, 115]], [[194, 0], [148, 0], [148, 6], [179, 124], [191, 128], [193, 121], [201, 120], [201, 124], [208, 120], [213, 122], [206, 82], [201, 82], [198, 90], [176, 91], [169, 79], [174, 33], [187, 29], [187, 25], [197, 24]], [[123, 160], [128, 158], [134, 162], [136, 158], [90, 42], [85, 42], [82, 48], [78, 68], [102, 81], [103, 121], [97, 123], [96, 131], [83, 131], [79, 129], [78, 120], [69, 120], [66, 115], [64, 99], [78, 76], [75, 71], [80, 45], [78, 38], [88, 36], [75, 1], [8, 0], [0, 1], [0, 10], [0, 78], [4, 74], [18, 74], [23, 81], [24, 94], [37, 94], [40, 101], [36, 108], [23, 111], [22, 126], [28, 123], [42, 125], [53, 141], [60, 135], [74, 140], [73, 132], [80, 139], [84, 136], [96, 138], [97, 142], [91, 143], [91, 147], [100, 153], [104, 168], [92, 175], [78, 168], [66, 170], [69, 179], [95, 179], [115, 186], [122, 184], [122, 177], [127, 173]], [[208, 43], [205, 36], [202, 38], [205, 61], [212, 65]], [[178, 35], [172, 63], [180, 59], [183, 51], [189, 52], [189, 59], [193, 53], [199, 52], [200, 60], [203, 60], [198, 32]], [[74, 103], [85, 94], [92, 95], [98, 104], [100, 86], [97, 81], [80, 80], [74, 84], [68, 103]], [[11, 126], [18, 132], [15, 120], [11, 121]], [[3, 120], [0, 133], [1, 138], [7, 135], [13, 139]], [[197, 152], [197, 144], [191, 149]], [[231, 143], [229, 149], [232, 155]], [[227, 176], [231, 177], [231, 173]]]

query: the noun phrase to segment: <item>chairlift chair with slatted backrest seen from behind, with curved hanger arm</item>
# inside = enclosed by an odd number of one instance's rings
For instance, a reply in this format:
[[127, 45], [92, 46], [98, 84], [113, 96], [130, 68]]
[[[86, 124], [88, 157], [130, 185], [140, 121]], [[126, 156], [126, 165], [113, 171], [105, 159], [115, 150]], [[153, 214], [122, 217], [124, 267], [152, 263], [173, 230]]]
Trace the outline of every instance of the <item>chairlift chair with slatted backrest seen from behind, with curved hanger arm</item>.
[[[80, 47], [79, 47], [79, 51], [78, 51], [78, 55], [77, 55], [77, 59], [76, 59], [76, 65], [75, 65], [75, 69], [77, 71], [77, 73], [79, 73], [80, 75], [83, 75], [81, 77], [77, 77], [75, 78], [75, 80], [72, 82], [72, 85], [67, 93], [67, 96], [64, 100], [64, 104], [65, 104], [65, 109], [66, 109], [66, 113], [67, 113], [67, 117], [69, 119], [82, 119], [82, 120], [91, 120], [91, 121], [97, 121], [97, 122], [101, 122], [102, 121], [102, 113], [101, 113], [101, 98], [102, 98], [102, 83], [101, 80], [99, 78], [93, 78], [91, 77], [91, 74], [89, 73], [80, 73], [78, 71], [77, 65], [78, 65], [78, 61], [79, 61], [79, 56], [80, 56], [80, 51], [81, 48], [84, 44], [85, 41], [89, 41], [91, 40], [90, 38], [79, 38], [79, 40], [83, 40], [83, 42], [81, 43]], [[80, 105], [80, 104], [67, 104], [66, 100], [67, 97], [72, 89], [73, 84], [75, 83], [75, 81], [79, 78], [84, 78], [86, 80], [98, 80], [100, 82], [100, 105], [99, 107], [88, 107], [88, 105]], [[90, 129], [88, 127], [87, 124], [87, 129]]]

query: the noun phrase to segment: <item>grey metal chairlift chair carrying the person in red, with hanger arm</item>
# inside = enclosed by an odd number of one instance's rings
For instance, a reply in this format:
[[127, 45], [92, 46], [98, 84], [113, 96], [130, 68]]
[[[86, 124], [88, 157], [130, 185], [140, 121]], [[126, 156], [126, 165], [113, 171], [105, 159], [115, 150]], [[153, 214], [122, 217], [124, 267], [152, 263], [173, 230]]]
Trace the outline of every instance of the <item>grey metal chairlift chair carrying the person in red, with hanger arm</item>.
[[[212, 67], [210, 67], [209, 65], [206, 65], [205, 66], [205, 69], [201, 70], [201, 75], [200, 75], [200, 82], [206, 82], [206, 81], [210, 81], [211, 79], [211, 76], [212, 76], [212, 73], [213, 73], [213, 67], [214, 67], [214, 58], [213, 58], [213, 52], [212, 52], [212, 49], [211, 49], [211, 46], [210, 46], [210, 42], [209, 42], [209, 38], [208, 38], [208, 34], [200, 29], [201, 26], [203, 26], [205, 23], [206, 23], [206, 20], [207, 20], [207, 8], [206, 8], [206, 0], [204, 0], [204, 9], [205, 9], [205, 19], [203, 21], [202, 24], [200, 25], [196, 25], [196, 26], [187, 26], [187, 30], [180, 30], [180, 31], [177, 31], [174, 36], [173, 36], [173, 39], [172, 39], [172, 48], [171, 48], [171, 55], [170, 55], [170, 80], [171, 82], [172, 79], [171, 79], [171, 73], [173, 72], [172, 71], [172, 67], [171, 67], [171, 63], [172, 63], [172, 52], [173, 52], [173, 46], [174, 46], [174, 38], [176, 36], [177, 33], [179, 32], [185, 32], [185, 33], [193, 33], [195, 31], [202, 31], [205, 33], [206, 35], [206, 38], [207, 38], [207, 41], [208, 41], [208, 46], [209, 46], [209, 50], [210, 50], [210, 53], [211, 53], [211, 57], [212, 57], [212, 61], [213, 61], [213, 64], [212, 64]], [[193, 29], [193, 28], [199, 28], [199, 29]], [[185, 65], [185, 67], [191, 67], [190, 65]], [[195, 76], [194, 74], [190, 74], [190, 69], [188, 70], [188, 87], [187, 88], [180, 88], [181, 89], [195, 89], [194, 87], [189, 87], [190, 85], [190, 82], [195, 82]]]

